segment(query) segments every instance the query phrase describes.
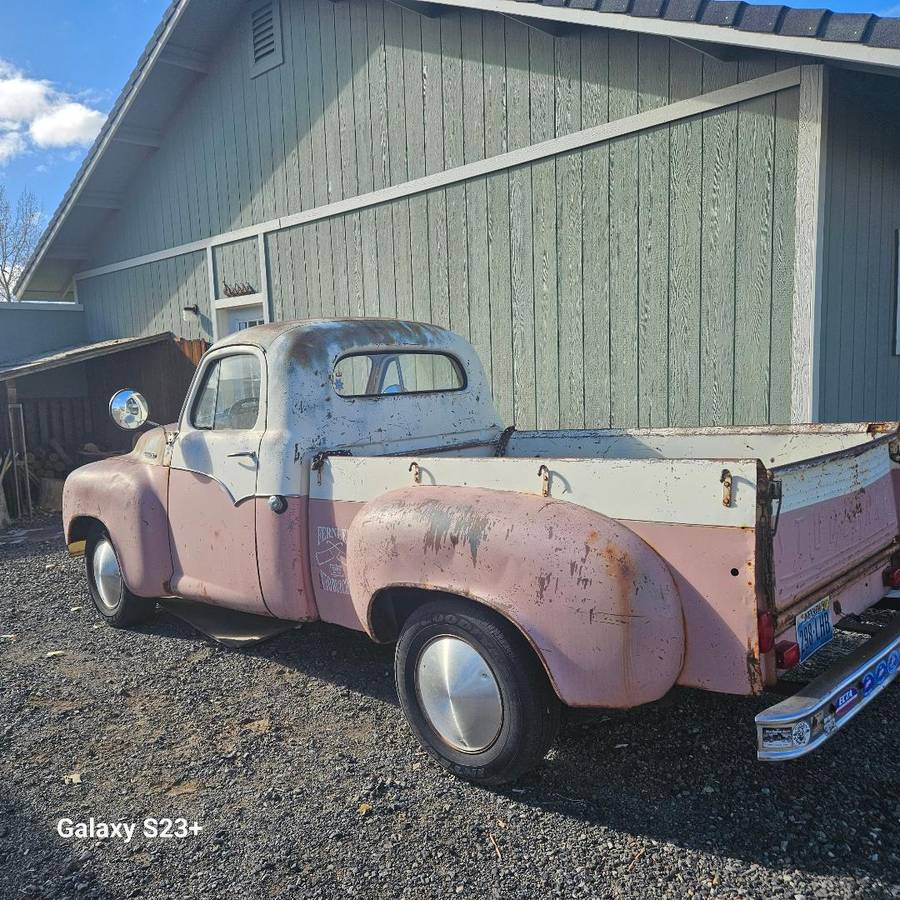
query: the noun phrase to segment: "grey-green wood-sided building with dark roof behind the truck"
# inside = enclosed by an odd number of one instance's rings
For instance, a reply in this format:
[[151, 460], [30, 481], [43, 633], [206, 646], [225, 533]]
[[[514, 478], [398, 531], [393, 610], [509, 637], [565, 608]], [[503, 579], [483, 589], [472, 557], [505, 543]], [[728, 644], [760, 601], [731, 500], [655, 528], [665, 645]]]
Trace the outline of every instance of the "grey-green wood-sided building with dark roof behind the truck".
[[174, 0], [19, 284], [450, 326], [523, 428], [900, 417], [900, 19]]

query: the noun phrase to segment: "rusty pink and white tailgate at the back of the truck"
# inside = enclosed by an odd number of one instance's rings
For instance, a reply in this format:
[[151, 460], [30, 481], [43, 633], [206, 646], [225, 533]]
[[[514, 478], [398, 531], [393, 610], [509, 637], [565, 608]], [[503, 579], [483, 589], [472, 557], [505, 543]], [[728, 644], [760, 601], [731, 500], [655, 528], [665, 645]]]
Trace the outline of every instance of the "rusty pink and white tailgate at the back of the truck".
[[[890, 442], [896, 435], [770, 470], [772, 574], [780, 612], [888, 547], [897, 537]], [[814, 598], [810, 598], [811, 602]]]

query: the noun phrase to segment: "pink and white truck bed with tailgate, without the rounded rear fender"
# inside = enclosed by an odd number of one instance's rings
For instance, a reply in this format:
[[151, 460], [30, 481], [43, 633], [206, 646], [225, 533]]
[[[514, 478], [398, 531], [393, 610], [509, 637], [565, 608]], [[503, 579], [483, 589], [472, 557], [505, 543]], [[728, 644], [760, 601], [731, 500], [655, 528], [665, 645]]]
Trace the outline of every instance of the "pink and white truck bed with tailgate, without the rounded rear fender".
[[[756, 693], [777, 676], [759, 653], [760, 612], [776, 614], [779, 636], [793, 640], [796, 616], [829, 586], [844, 601], [835, 618], [880, 599], [878, 566], [898, 532], [896, 431], [896, 423], [515, 431], [419, 452], [353, 448], [324, 459], [311, 479], [311, 533], [346, 534], [364, 504], [416, 483], [544, 493], [586, 507], [633, 531], [671, 569], [688, 635], [679, 683]], [[351, 624], [348, 598], [326, 590], [317, 599], [324, 618], [337, 608], [333, 620]]]

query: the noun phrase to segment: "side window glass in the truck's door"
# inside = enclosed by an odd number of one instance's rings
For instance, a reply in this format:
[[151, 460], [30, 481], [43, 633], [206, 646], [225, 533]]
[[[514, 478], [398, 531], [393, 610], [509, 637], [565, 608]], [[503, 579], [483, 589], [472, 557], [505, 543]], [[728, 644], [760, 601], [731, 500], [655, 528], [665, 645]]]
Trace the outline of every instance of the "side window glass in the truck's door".
[[194, 404], [194, 428], [248, 429], [259, 418], [259, 360], [249, 354], [212, 364]]

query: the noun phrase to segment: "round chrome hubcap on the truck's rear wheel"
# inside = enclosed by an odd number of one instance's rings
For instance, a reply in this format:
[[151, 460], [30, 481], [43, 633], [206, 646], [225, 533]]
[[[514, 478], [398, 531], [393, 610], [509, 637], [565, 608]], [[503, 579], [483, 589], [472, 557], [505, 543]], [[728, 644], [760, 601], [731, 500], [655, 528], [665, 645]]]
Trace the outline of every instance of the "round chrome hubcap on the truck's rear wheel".
[[500, 734], [497, 679], [466, 641], [441, 635], [426, 644], [416, 663], [416, 689], [429, 724], [454, 749], [478, 753]]

